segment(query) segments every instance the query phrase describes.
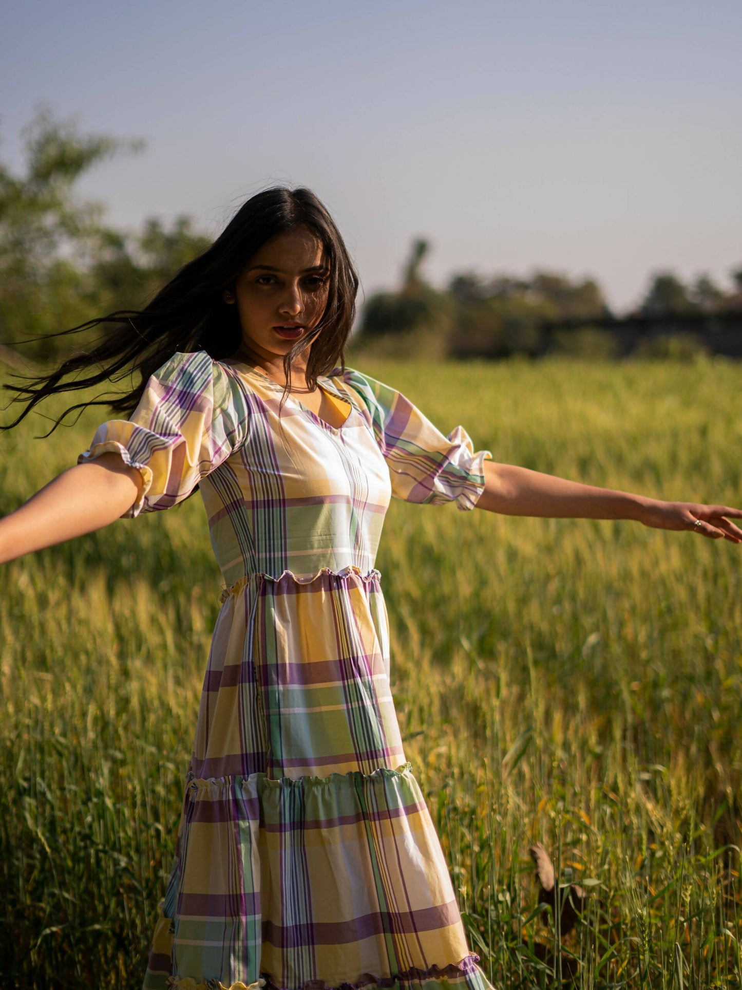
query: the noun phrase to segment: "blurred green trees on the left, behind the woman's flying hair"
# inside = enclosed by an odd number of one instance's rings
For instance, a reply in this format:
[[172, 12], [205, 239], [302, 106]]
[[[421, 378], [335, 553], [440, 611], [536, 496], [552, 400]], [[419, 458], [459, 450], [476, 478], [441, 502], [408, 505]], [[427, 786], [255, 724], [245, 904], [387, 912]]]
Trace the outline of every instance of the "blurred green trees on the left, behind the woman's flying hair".
[[117, 231], [105, 225], [101, 204], [76, 197], [84, 174], [140, 142], [80, 134], [74, 121], [46, 110], [24, 137], [23, 173], [0, 163], [0, 344], [52, 360], [86, 341], [45, 335], [144, 305], [211, 240], [187, 216]]

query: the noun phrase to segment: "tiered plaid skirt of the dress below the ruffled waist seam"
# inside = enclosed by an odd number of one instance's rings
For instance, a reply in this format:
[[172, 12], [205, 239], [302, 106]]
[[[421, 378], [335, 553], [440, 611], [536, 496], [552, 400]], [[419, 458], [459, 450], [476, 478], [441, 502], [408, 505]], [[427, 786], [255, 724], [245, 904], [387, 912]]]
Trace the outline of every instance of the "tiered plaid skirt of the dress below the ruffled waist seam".
[[489, 990], [477, 963], [404, 761], [378, 571], [238, 582], [145, 990]]

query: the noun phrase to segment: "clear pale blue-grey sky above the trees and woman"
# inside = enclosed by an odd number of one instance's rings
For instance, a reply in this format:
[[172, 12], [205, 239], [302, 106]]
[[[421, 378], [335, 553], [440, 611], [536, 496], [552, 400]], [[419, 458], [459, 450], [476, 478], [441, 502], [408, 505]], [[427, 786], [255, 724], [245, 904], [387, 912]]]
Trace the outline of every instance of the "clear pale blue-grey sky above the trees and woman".
[[81, 191], [212, 233], [273, 180], [313, 188], [366, 292], [427, 272], [742, 266], [740, 0], [4, 4], [0, 154], [40, 103], [140, 137]]

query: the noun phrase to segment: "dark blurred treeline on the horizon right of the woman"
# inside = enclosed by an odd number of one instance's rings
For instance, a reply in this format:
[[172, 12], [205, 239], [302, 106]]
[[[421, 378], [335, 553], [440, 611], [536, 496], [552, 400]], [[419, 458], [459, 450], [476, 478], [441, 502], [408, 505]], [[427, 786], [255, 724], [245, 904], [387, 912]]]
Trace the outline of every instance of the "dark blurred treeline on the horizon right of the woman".
[[671, 271], [658, 272], [636, 310], [618, 317], [595, 279], [557, 272], [527, 278], [462, 272], [435, 289], [420, 274], [427, 250], [416, 241], [399, 289], [366, 301], [359, 345], [391, 351], [395, 342], [411, 349], [425, 342], [436, 355], [453, 357], [701, 349], [742, 356], [742, 267], [731, 272], [727, 291], [708, 275], [688, 285]]

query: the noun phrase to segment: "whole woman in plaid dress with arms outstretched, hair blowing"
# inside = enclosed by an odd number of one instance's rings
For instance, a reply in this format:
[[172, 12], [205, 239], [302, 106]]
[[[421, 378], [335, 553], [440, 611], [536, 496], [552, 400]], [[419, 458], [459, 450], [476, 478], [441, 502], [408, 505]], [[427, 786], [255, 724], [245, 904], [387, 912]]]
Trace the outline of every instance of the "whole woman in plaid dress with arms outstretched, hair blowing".
[[114, 328], [99, 347], [17, 389], [21, 419], [72, 373], [142, 376], [113, 406], [131, 418], [0, 521], [0, 560], [198, 485], [225, 578], [148, 988], [489, 987], [390, 693], [374, 561], [391, 495], [742, 539], [739, 510], [485, 463], [461, 428], [444, 437], [344, 367], [356, 289], [319, 200], [269, 189], [144, 310], [86, 325]]

